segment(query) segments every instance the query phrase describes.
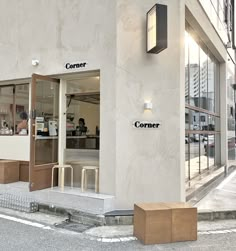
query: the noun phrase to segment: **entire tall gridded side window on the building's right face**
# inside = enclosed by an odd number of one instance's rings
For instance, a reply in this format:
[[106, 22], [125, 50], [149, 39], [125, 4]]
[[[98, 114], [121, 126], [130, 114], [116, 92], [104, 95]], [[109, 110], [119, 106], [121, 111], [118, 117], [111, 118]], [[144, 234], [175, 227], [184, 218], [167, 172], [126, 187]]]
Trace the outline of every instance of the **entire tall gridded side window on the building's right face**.
[[[219, 114], [217, 61], [190, 27], [185, 31], [185, 173], [190, 180], [216, 166]], [[218, 141], [217, 141], [218, 142]]]

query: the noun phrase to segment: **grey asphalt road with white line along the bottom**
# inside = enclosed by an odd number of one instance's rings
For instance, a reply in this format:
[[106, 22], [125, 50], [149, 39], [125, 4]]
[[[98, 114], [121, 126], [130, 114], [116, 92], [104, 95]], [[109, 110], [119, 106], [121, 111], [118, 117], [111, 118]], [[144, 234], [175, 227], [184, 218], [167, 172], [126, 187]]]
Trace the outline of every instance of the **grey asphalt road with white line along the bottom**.
[[[180, 242], [144, 246], [139, 241], [124, 241], [107, 243], [91, 240], [84, 233], [75, 233], [54, 228], [51, 224], [35, 224], [33, 219], [27, 222], [16, 222], [18, 216], [12, 219], [0, 214], [0, 250], [236, 250], [236, 220], [199, 223], [197, 241]], [[37, 219], [37, 221], [39, 218]], [[20, 220], [21, 221], [21, 220]], [[49, 222], [49, 220], [47, 220]], [[29, 225], [31, 224], [32, 225]]]

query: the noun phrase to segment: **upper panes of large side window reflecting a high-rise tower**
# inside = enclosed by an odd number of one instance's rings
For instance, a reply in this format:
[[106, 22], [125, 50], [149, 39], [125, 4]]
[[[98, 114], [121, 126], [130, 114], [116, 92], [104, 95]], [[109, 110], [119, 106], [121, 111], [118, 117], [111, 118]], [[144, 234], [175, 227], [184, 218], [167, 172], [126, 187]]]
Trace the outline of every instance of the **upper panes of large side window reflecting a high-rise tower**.
[[185, 102], [215, 112], [216, 63], [198, 43], [185, 32]]

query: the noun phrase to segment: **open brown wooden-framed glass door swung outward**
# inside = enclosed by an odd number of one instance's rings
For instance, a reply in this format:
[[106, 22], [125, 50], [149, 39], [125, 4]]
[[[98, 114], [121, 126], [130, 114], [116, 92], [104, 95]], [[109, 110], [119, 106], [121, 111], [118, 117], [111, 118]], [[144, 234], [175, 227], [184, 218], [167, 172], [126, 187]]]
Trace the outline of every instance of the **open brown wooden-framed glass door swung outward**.
[[[58, 161], [58, 119], [59, 79], [33, 74], [30, 120], [30, 191], [51, 186], [52, 167]], [[56, 183], [56, 173], [54, 177]]]

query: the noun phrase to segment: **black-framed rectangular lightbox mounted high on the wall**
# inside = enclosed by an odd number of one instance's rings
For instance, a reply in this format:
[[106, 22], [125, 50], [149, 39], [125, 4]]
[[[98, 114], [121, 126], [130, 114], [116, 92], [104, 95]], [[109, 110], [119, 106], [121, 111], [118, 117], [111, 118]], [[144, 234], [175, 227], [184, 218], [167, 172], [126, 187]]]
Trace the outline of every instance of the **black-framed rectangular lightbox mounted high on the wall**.
[[155, 4], [148, 12], [147, 53], [159, 53], [167, 48], [167, 6]]

